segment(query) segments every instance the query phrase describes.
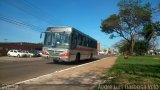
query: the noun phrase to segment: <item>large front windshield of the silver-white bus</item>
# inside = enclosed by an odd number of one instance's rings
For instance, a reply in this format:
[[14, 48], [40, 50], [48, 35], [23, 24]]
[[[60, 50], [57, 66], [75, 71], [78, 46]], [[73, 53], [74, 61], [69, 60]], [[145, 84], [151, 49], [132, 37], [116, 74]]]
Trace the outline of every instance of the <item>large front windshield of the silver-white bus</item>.
[[44, 46], [52, 48], [69, 48], [69, 35], [66, 32], [47, 32]]

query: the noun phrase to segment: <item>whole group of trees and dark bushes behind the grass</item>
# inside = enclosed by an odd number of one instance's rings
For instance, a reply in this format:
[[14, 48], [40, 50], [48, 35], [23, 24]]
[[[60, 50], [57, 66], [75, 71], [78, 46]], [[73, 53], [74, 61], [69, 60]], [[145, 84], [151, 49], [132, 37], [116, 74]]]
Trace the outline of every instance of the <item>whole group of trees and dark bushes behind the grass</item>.
[[160, 21], [153, 20], [155, 13], [160, 15], [160, 3], [153, 8], [150, 2], [121, 0], [118, 6], [118, 14], [112, 14], [101, 22], [101, 31], [111, 39], [123, 38], [115, 44], [120, 52], [145, 54], [151, 48], [151, 40], [160, 36]]

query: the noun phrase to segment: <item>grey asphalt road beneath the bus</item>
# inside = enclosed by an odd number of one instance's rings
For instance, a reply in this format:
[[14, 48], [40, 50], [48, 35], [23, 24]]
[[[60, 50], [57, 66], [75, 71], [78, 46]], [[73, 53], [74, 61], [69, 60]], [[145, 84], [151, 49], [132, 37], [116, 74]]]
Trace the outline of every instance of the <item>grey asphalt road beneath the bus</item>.
[[[104, 57], [107, 56], [100, 55], [98, 59]], [[91, 62], [91, 60], [84, 60], [79, 63], [53, 63], [52, 60], [43, 59], [24, 62], [0, 62], [0, 85], [14, 84], [88, 62]]]

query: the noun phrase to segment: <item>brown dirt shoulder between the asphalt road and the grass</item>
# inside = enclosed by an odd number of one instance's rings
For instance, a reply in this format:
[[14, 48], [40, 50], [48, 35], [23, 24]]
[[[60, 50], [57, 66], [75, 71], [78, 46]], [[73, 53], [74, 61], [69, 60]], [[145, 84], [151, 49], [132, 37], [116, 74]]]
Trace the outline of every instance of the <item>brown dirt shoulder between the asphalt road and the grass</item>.
[[[19, 88], [23, 87], [23, 89], [25, 87], [27, 90], [33, 90], [35, 88], [44, 88], [44, 90], [47, 88], [52, 88], [52, 90], [64, 90], [64, 87], [66, 86], [72, 86], [74, 89], [80, 88], [81, 90], [84, 85], [90, 87], [88, 85], [93, 86], [95, 84], [101, 83], [101, 77], [106, 73], [107, 70], [112, 67], [116, 59], [117, 57], [115, 56], [103, 58], [94, 62], [78, 65], [37, 78], [18, 82], [16, 85], [18, 85]], [[82, 90], [84, 90], [84, 88], [82, 88]]]

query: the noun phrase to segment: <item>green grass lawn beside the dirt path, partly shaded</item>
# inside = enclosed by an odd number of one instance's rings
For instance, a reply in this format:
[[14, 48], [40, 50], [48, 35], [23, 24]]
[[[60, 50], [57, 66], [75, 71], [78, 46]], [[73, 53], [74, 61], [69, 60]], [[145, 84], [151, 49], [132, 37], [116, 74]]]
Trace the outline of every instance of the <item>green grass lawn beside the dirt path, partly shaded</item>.
[[109, 85], [160, 85], [160, 56], [119, 56], [102, 79]]

